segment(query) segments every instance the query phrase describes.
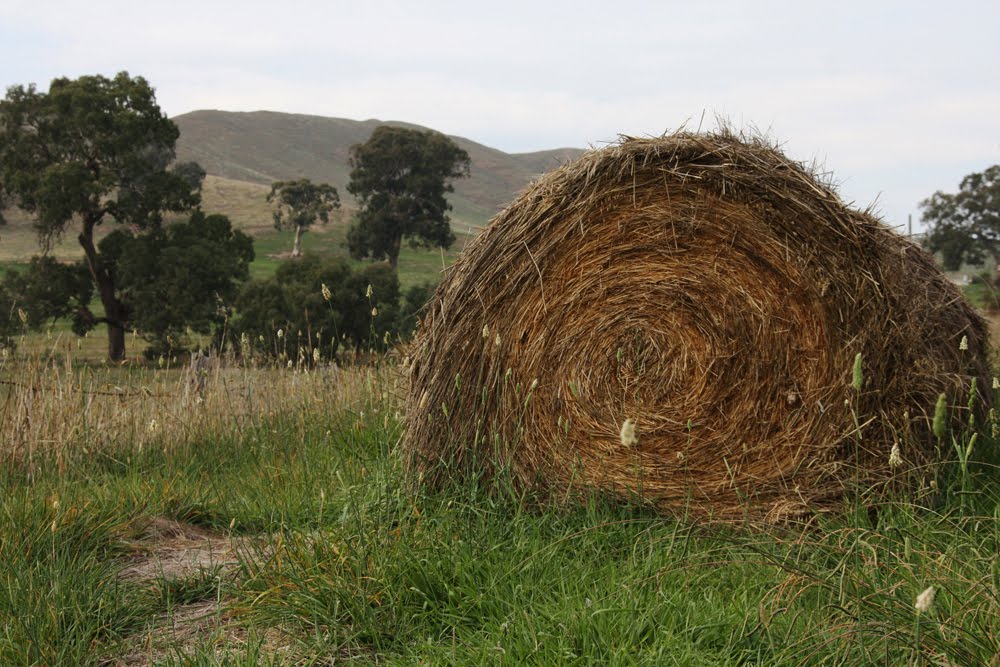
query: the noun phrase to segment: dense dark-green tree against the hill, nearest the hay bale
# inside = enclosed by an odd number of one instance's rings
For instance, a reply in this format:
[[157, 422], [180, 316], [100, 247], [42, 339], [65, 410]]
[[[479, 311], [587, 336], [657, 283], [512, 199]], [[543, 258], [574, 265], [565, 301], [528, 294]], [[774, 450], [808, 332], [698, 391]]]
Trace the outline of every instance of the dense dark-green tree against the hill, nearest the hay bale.
[[351, 147], [347, 190], [361, 210], [347, 235], [356, 259], [386, 259], [395, 268], [406, 238], [414, 246], [449, 248], [454, 192], [451, 180], [467, 176], [469, 154], [438, 132], [380, 126]]

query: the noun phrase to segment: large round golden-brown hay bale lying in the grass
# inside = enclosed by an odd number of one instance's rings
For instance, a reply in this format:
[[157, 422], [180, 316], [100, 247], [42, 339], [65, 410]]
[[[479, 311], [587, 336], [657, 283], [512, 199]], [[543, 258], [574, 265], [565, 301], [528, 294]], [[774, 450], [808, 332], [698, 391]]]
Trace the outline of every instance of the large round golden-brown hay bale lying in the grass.
[[403, 444], [431, 483], [780, 520], [926, 472], [938, 396], [965, 420], [986, 349], [931, 257], [773, 147], [623, 138], [533, 183], [447, 272]]

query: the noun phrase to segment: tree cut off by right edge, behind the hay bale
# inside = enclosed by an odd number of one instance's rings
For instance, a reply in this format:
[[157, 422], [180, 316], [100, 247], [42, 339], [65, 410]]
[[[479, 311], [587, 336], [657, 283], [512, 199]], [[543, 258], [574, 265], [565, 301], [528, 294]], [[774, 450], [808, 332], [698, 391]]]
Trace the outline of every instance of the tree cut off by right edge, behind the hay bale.
[[1000, 165], [969, 174], [954, 194], [935, 192], [920, 208], [927, 225], [924, 243], [941, 253], [946, 269], [990, 257], [1000, 270]]

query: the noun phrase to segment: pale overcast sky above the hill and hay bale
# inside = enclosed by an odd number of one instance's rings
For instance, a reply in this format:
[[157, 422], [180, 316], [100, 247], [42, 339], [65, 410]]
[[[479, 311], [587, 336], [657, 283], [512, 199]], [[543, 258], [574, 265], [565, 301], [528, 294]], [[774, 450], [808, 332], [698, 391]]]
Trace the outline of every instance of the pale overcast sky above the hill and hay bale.
[[0, 84], [128, 70], [171, 116], [404, 120], [509, 152], [721, 116], [900, 225], [1000, 163], [998, 32], [997, 0], [0, 0]]

